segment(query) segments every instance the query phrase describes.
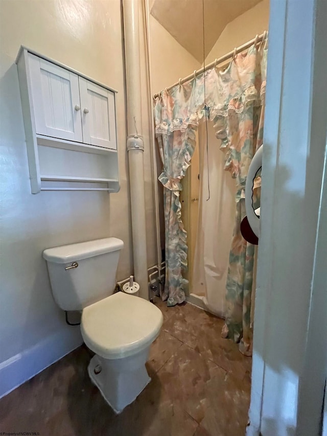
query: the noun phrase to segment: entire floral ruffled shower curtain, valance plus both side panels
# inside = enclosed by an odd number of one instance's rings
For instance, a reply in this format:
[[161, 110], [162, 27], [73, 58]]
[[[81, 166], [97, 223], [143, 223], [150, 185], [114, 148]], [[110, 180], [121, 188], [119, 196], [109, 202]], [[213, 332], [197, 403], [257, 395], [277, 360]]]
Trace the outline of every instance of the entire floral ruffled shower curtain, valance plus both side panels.
[[[216, 136], [226, 151], [225, 170], [236, 179], [237, 216], [226, 284], [227, 313], [223, 336], [241, 341], [251, 354], [250, 307], [253, 249], [240, 234], [245, 215], [244, 189], [252, 156], [262, 143], [267, 50], [253, 45], [237, 55], [225, 71], [215, 68], [169, 92], [163, 90], [154, 107], [155, 132], [164, 170], [159, 180], [165, 190], [166, 284], [168, 305], [185, 299], [186, 234], [180, 219], [180, 181], [190, 165], [199, 122], [214, 121]], [[205, 96], [204, 96], [205, 75]], [[205, 110], [205, 104], [208, 110]], [[242, 340], [243, 339], [243, 340]]]

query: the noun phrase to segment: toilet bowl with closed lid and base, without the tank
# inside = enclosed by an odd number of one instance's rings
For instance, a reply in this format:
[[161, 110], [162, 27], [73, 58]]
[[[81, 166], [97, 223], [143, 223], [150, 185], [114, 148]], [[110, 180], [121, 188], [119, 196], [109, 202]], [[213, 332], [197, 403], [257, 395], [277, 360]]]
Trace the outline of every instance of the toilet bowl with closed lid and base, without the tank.
[[123, 292], [83, 310], [82, 336], [96, 353], [88, 374], [116, 413], [150, 382], [145, 363], [161, 325], [162, 314], [156, 306]]

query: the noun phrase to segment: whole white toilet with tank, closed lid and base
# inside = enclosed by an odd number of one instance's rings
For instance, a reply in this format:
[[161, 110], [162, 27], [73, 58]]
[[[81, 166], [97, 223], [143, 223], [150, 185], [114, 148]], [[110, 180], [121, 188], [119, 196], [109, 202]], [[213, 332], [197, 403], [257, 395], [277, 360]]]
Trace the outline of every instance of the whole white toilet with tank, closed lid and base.
[[151, 380], [145, 363], [162, 325], [162, 313], [152, 303], [113, 294], [123, 246], [120, 239], [105, 238], [43, 251], [56, 303], [65, 311], [82, 311], [82, 336], [96, 353], [88, 373], [116, 413]]

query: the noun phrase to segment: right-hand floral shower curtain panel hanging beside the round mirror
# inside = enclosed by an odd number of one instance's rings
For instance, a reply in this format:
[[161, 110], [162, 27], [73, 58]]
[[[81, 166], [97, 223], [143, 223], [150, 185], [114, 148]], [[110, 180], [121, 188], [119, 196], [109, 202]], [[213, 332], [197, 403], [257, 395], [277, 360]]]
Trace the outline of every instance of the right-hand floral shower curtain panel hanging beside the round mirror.
[[[251, 294], [253, 282], [254, 246], [241, 235], [245, 217], [245, 183], [254, 153], [263, 142], [266, 91], [267, 50], [249, 50], [235, 59], [231, 74], [234, 95], [230, 95], [228, 111], [216, 118], [216, 136], [221, 147], [228, 147], [225, 169], [236, 178], [236, 219], [229, 254], [226, 282], [226, 314], [222, 337], [240, 342], [239, 349], [252, 355]], [[237, 71], [236, 71], [237, 70]], [[255, 183], [253, 203], [259, 206], [260, 181]], [[256, 204], [257, 203], [257, 204]]]

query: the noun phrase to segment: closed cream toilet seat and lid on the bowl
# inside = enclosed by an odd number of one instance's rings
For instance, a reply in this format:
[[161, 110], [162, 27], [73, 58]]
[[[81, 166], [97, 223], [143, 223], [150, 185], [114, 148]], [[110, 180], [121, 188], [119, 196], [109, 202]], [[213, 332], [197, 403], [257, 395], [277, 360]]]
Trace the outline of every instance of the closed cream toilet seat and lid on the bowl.
[[90, 350], [105, 359], [120, 359], [149, 347], [162, 319], [154, 304], [117, 292], [83, 309], [81, 332]]

